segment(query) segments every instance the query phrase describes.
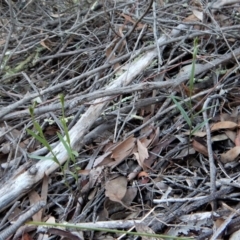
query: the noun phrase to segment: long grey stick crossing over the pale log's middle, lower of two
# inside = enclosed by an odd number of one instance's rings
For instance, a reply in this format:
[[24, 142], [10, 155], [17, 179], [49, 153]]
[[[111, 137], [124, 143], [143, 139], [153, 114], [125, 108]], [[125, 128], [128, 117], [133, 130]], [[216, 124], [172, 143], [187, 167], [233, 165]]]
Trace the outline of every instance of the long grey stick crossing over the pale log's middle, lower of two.
[[[240, 48], [235, 49], [233, 52], [236, 56], [239, 56]], [[214, 66], [224, 64], [227, 61], [231, 60], [232, 58], [233, 58], [232, 53], [228, 53], [228, 54], [225, 54], [225, 55], [223, 55], [213, 61], [210, 61], [206, 64], [198, 65], [198, 67], [196, 68], [196, 71], [195, 71], [195, 75], [198, 75], [200, 73], [208, 71], [208, 70], [212, 69]], [[135, 85], [131, 85], [131, 86], [122, 86], [117, 89], [98, 90], [98, 91], [94, 91], [93, 93], [88, 93], [88, 94], [76, 97], [70, 101], [66, 101], [65, 107], [73, 108], [74, 106], [76, 106], [78, 104], [82, 104], [84, 102], [90, 102], [90, 101], [95, 100], [100, 97], [113, 96], [113, 95], [119, 95], [119, 94], [127, 94], [127, 93], [132, 93], [132, 92], [140, 91], [140, 90], [144, 90], [144, 89], [154, 90], [154, 89], [167, 88], [167, 87], [171, 87], [171, 86], [175, 87], [188, 79], [189, 79], [189, 76], [184, 75], [179, 78], [169, 80], [167, 82], [149, 82], [149, 83], [146, 82], [146, 83], [140, 83], [140, 84], [135, 84]], [[45, 94], [47, 92], [48, 92], [48, 90], [44, 90], [43, 92], [41, 92], [41, 94], [43, 94], [43, 93]], [[13, 112], [13, 113], [10, 113], [7, 115], [6, 115], [6, 113], [8, 113], [11, 109], [14, 109], [17, 106], [20, 106], [21, 104], [25, 103], [26, 101], [30, 101], [32, 98], [37, 97], [37, 96], [38, 96], [38, 94], [32, 94], [31, 96], [26, 97], [26, 99], [25, 98], [21, 99], [20, 101], [10, 105], [9, 107], [4, 108], [2, 110], [3, 112], [2, 111], [0, 112], [0, 119], [1, 119], [0, 121], [14, 119], [14, 118], [16, 118], [16, 116], [18, 116], [18, 117], [29, 116], [28, 109]], [[43, 106], [43, 107], [36, 108], [34, 111], [34, 114], [39, 115], [39, 114], [43, 114], [43, 113], [50, 112], [50, 111], [60, 109], [60, 108], [61, 108], [60, 103], [52, 104], [50, 106]], [[3, 113], [5, 113], [5, 114], [3, 114]]]

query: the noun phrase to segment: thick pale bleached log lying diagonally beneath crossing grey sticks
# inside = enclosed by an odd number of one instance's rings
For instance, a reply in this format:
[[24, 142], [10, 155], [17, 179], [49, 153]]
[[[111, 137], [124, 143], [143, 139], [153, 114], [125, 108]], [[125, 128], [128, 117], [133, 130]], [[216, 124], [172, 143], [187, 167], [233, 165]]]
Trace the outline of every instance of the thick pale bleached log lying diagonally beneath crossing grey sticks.
[[[178, 33], [180, 33], [180, 31], [178, 31]], [[167, 38], [163, 36], [159, 39], [159, 43], [165, 41], [166, 39]], [[130, 64], [126, 72], [110, 83], [107, 89], [117, 89], [121, 86], [127, 86], [138, 74], [140, 74], [152, 63], [153, 59], [156, 57], [156, 53], [157, 51], [155, 50], [149, 51], [140, 57], [136, 62]], [[69, 131], [71, 145], [74, 150], [79, 150], [81, 140], [99, 115], [103, 112], [103, 109], [108, 104], [109, 99], [111, 99], [111, 97], [104, 97], [95, 100], [75, 126]], [[53, 151], [57, 154], [59, 163], [64, 164], [68, 158], [68, 154], [62, 143], [59, 143]], [[21, 196], [29, 192], [36, 183], [41, 181], [44, 174], [49, 175], [58, 168], [58, 165], [51, 159], [51, 154], [48, 154], [46, 157], [49, 157], [49, 160], [41, 160], [37, 162], [28, 171], [10, 179], [1, 187], [0, 211], [4, 210], [13, 201], [16, 201]], [[35, 172], [35, 174], [31, 174], [31, 172]]]

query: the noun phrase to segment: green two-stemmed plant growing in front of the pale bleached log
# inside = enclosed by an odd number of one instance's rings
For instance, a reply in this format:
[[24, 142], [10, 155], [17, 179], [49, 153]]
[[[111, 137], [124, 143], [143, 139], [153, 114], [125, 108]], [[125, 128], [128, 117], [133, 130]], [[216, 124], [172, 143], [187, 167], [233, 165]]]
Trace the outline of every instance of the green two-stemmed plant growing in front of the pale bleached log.
[[[74, 165], [76, 164], [76, 157], [78, 156], [78, 153], [76, 151], [74, 151], [71, 147], [71, 140], [70, 140], [70, 135], [69, 135], [68, 127], [67, 127], [67, 118], [65, 118], [65, 111], [64, 111], [64, 96], [61, 94], [61, 95], [59, 95], [59, 98], [60, 98], [60, 102], [61, 102], [61, 106], [62, 106], [62, 117], [60, 118], [60, 122], [62, 124], [63, 133], [64, 133], [66, 139], [59, 132], [57, 132], [57, 136], [67, 151], [68, 159], [67, 159], [66, 163], [64, 164], [64, 166], [62, 166], [60, 164], [60, 162], [58, 161], [58, 158], [57, 158], [57, 153], [55, 153], [53, 151], [51, 145], [48, 143], [46, 137], [44, 136], [44, 133], [43, 133], [43, 130], [42, 130], [40, 124], [35, 119], [34, 109], [36, 107], [36, 102], [34, 102], [33, 106], [29, 107], [29, 112], [30, 112], [30, 115], [32, 118], [33, 127], [34, 127], [35, 131], [27, 129], [27, 133], [30, 134], [32, 137], [34, 137], [43, 146], [45, 146], [47, 148], [47, 150], [51, 153], [52, 156], [51, 157], [43, 157], [43, 156], [30, 154], [29, 157], [38, 159], [38, 160], [49, 160], [50, 159], [50, 160], [54, 161], [56, 164], [58, 164], [61, 172], [63, 173], [64, 179], [65, 179], [65, 184], [67, 185], [67, 187], [69, 187], [69, 185], [66, 182], [66, 169], [69, 168], [70, 161], [72, 161], [74, 163]], [[78, 181], [77, 170], [78, 169], [75, 167], [74, 172], [68, 171], [68, 173], [74, 177], [76, 182]]]

